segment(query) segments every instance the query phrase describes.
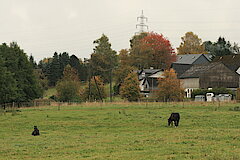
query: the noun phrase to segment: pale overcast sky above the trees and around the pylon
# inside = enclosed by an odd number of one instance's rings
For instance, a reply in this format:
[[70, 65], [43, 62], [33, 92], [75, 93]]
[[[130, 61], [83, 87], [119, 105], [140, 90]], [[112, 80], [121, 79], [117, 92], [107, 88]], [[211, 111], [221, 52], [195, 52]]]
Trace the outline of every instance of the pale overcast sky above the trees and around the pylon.
[[203, 41], [240, 43], [239, 0], [0, 0], [0, 43], [16, 41], [39, 61], [55, 51], [89, 58], [104, 33], [116, 51], [129, 48], [144, 11], [149, 31], [176, 48], [193, 31]]

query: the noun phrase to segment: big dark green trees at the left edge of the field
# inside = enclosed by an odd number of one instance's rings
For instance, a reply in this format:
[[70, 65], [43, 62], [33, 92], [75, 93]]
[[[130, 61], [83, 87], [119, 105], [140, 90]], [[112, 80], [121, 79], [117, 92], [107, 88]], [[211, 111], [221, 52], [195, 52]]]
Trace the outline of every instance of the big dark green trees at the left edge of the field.
[[12, 42], [0, 45], [0, 103], [39, 98], [43, 88], [26, 53]]

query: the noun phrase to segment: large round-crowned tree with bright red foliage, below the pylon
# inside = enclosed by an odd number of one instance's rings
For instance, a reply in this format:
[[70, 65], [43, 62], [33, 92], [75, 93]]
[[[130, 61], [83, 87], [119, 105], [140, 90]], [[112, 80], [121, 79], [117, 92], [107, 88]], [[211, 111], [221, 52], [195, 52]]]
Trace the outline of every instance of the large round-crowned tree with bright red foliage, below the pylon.
[[170, 41], [162, 34], [147, 33], [142, 39], [134, 42], [130, 56], [133, 66], [138, 69], [150, 67], [167, 69], [176, 61]]

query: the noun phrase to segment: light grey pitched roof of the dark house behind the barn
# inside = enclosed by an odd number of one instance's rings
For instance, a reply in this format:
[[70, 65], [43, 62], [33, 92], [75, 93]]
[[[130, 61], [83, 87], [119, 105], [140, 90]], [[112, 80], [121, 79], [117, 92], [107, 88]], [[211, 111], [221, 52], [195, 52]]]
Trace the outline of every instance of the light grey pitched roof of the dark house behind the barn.
[[211, 61], [209, 54], [183, 54], [177, 55], [177, 64], [193, 64], [199, 57], [204, 56], [208, 61]]

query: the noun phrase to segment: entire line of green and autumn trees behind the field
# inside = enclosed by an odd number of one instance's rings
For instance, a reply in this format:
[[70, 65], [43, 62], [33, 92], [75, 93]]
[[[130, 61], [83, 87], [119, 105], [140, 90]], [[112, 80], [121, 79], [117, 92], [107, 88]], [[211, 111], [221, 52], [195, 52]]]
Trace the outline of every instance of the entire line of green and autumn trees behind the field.
[[[110, 84], [110, 97], [120, 94], [122, 98], [136, 101], [140, 98], [136, 70], [150, 67], [164, 69], [165, 74], [172, 75], [169, 77], [175, 81], [170, 66], [176, 61], [177, 54], [205, 53], [216, 57], [239, 53], [238, 45], [231, 44], [224, 37], [219, 37], [216, 42], [202, 42], [196, 34], [187, 32], [181, 40], [175, 52], [171, 42], [162, 34], [141, 33], [130, 39], [129, 49], [117, 53], [111, 48], [109, 38], [103, 34], [93, 41], [95, 47], [89, 59], [82, 60], [67, 52], [55, 52], [38, 64], [33, 56], [28, 58], [16, 43], [3, 43], [0, 46], [0, 103], [41, 98], [48, 87], [57, 88], [54, 98], [61, 101], [102, 100], [107, 97], [103, 89], [107, 83]], [[164, 86], [159, 88], [163, 89]], [[179, 88], [175, 90], [179, 92]], [[159, 96], [163, 98], [160, 93]]]

